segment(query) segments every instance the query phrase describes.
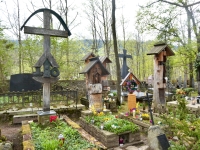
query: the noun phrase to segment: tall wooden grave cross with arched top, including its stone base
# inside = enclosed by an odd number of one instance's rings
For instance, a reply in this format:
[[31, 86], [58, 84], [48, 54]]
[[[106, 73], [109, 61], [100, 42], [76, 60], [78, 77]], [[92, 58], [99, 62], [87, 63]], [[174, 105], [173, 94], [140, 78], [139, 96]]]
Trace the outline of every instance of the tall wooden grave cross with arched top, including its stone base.
[[[39, 12], [43, 12], [43, 28], [25, 26], [28, 20], [33, 15]], [[51, 14], [57, 17], [57, 19], [63, 25], [65, 31], [50, 29]], [[35, 76], [34, 79], [43, 84], [43, 111], [38, 111], [38, 120], [41, 120], [40, 123], [44, 123], [49, 120], [50, 115], [56, 114], [54, 110], [50, 110], [50, 84], [57, 82], [59, 80], [58, 76], [60, 75], [60, 72], [58, 70], [59, 66], [50, 52], [50, 36], [67, 38], [68, 35], [71, 35], [71, 33], [64, 23], [63, 19], [55, 11], [47, 8], [39, 9], [31, 14], [30, 17], [25, 21], [24, 25], [21, 27], [21, 30], [23, 28], [24, 33], [43, 35], [44, 37], [44, 53], [35, 64], [34, 67], [36, 69], [36, 72], [33, 73], [33, 75]], [[43, 66], [43, 72], [41, 72], [41, 66]]]

